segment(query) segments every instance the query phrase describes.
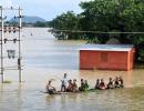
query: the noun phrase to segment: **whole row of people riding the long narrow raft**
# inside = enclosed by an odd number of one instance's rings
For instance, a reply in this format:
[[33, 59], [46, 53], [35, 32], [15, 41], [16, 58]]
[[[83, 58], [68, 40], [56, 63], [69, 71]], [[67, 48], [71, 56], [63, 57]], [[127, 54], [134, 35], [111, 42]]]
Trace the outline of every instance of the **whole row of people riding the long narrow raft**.
[[[66, 73], [64, 73], [64, 77], [61, 80], [61, 91], [59, 91], [59, 92], [79, 92], [79, 91], [90, 90], [89, 83], [86, 80], [81, 79], [81, 85], [78, 87], [76, 79], [68, 80], [66, 77], [68, 77]], [[54, 94], [58, 91], [51, 84], [51, 82], [52, 82], [51, 80], [48, 82], [45, 89], [47, 89], [48, 93]], [[115, 79], [110, 78], [107, 84], [104, 82], [103, 79], [101, 79], [101, 80], [97, 79], [93, 90], [117, 89], [117, 88], [124, 88], [124, 82], [123, 82], [122, 77], [116, 77]]]

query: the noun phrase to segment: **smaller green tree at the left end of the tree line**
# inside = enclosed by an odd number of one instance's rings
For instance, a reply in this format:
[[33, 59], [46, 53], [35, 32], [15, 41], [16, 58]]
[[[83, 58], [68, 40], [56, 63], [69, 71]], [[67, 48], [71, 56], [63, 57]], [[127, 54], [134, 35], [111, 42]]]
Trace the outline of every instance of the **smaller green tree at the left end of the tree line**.
[[80, 39], [80, 33], [71, 32], [73, 30], [79, 30], [79, 17], [73, 11], [68, 11], [49, 22], [49, 26], [53, 28], [50, 31], [55, 36], [56, 39]]

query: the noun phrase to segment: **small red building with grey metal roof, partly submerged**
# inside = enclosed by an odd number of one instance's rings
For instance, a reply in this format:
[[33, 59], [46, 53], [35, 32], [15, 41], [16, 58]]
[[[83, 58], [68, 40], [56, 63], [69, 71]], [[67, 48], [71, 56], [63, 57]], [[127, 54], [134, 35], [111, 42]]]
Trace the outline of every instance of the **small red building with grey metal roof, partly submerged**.
[[88, 44], [80, 49], [81, 70], [124, 70], [134, 67], [135, 49], [127, 44]]

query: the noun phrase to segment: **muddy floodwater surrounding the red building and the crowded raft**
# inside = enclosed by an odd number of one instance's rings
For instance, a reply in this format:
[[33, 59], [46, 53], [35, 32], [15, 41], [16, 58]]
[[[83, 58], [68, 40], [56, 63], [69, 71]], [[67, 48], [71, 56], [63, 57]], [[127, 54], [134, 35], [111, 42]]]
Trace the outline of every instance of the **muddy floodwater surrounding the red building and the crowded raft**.
[[[4, 70], [0, 84], [0, 111], [143, 111], [144, 70], [101, 71], [79, 70], [79, 49], [85, 41], [58, 41], [48, 29], [23, 29], [22, 83], [16, 70]], [[12, 46], [12, 44], [11, 44]], [[8, 47], [4, 47], [8, 49]], [[14, 48], [14, 47], [10, 47]], [[7, 50], [6, 49], [6, 50]], [[10, 63], [12, 61], [12, 63]], [[4, 65], [14, 64], [7, 60]], [[125, 89], [84, 93], [48, 95], [44, 92], [49, 79], [60, 90], [60, 80], [66, 72], [71, 79], [86, 79], [94, 87], [95, 80], [122, 75]], [[78, 82], [80, 84], [80, 82]]]

